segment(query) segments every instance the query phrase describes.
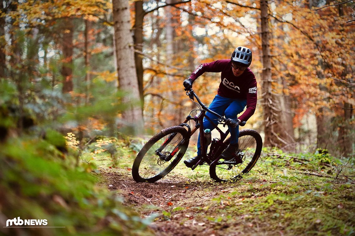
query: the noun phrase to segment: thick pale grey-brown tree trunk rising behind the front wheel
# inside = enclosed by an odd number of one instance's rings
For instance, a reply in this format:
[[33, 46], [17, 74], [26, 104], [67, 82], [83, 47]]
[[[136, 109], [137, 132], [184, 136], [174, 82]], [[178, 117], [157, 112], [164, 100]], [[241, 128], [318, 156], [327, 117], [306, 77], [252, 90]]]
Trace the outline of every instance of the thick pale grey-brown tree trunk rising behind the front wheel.
[[122, 104], [127, 106], [122, 112], [122, 119], [130, 129], [128, 132], [141, 134], [143, 133], [143, 115], [142, 108], [138, 103], [140, 93], [135, 68], [133, 38], [130, 32], [129, 1], [113, 0], [112, 3], [119, 88], [129, 92], [122, 97]]

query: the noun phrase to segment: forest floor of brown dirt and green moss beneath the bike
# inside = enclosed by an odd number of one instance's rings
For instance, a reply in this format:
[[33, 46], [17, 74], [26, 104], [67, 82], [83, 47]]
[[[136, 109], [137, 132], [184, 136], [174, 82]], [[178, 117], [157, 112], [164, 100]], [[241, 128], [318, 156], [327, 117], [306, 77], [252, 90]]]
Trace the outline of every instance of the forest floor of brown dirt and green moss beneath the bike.
[[[153, 235], [355, 235], [355, 182], [253, 173], [215, 183], [208, 171], [179, 163], [155, 183], [136, 183], [129, 165], [102, 171], [103, 184]], [[280, 170], [282, 173], [282, 169]]]

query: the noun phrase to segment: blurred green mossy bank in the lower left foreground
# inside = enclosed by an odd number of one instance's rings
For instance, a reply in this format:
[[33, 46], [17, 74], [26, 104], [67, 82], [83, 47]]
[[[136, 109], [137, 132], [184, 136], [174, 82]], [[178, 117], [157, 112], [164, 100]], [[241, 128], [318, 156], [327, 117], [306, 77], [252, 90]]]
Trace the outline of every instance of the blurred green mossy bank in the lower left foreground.
[[[0, 234], [149, 235], [151, 219], [141, 218], [122, 205], [122, 198], [98, 186], [97, 166], [72, 149], [59, 151], [64, 143], [53, 130], [45, 139], [23, 136], [1, 143]], [[41, 226], [47, 228], [6, 227], [8, 219], [18, 217], [46, 219]]]

